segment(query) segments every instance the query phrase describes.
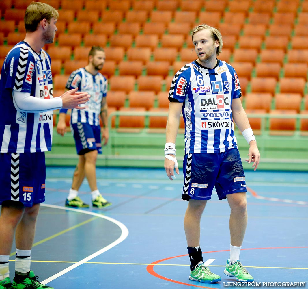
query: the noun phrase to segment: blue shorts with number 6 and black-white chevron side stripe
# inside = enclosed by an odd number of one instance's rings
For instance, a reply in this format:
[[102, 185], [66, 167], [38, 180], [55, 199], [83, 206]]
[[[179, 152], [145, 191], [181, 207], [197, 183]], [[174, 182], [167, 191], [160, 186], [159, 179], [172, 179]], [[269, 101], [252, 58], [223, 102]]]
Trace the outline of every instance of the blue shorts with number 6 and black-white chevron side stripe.
[[214, 186], [219, 200], [228, 194], [247, 192], [237, 148], [215, 154], [187, 154], [183, 171], [183, 200], [209, 200]]

